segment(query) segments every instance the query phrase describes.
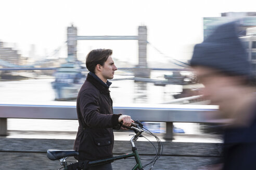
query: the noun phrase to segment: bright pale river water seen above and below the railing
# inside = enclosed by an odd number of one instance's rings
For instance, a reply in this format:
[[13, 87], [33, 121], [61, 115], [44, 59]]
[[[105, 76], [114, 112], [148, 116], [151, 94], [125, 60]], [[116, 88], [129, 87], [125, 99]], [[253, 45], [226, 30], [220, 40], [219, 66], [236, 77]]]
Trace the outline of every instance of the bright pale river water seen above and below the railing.
[[[155, 76], [159, 78], [159, 76]], [[161, 77], [160, 77], [161, 78]], [[48, 79], [28, 79], [19, 81], [0, 82], [1, 103], [47, 103], [54, 101], [54, 90]], [[165, 87], [153, 83], [134, 82], [133, 80], [113, 80], [111, 97], [114, 104], [161, 104], [173, 100], [173, 95], [182, 91], [182, 86], [168, 84]], [[163, 126], [162, 126], [163, 125]], [[175, 123], [185, 133], [195, 134], [198, 126], [195, 123]], [[164, 124], [161, 124], [161, 128]], [[37, 120], [37, 119], [8, 119], [8, 130], [24, 131], [76, 131], [76, 120]]]

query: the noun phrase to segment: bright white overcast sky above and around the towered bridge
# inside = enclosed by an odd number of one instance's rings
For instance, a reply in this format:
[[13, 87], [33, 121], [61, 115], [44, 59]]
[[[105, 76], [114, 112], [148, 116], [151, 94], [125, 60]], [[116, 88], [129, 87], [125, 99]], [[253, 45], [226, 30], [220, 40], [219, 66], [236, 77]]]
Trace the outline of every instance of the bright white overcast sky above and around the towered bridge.
[[[37, 57], [42, 57], [65, 47], [71, 23], [78, 28], [78, 35], [137, 35], [138, 26], [146, 25], [151, 45], [166, 56], [182, 60], [190, 56], [187, 47], [202, 41], [202, 18], [229, 11], [256, 11], [256, 1], [1, 0], [0, 40], [7, 42], [7, 47], [15, 46], [22, 56], [28, 56], [34, 44]], [[149, 61], [168, 59], [151, 45]], [[95, 48], [111, 48], [113, 58], [137, 62], [135, 40], [79, 41], [79, 59], [84, 60]], [[66, 48], [59, 56], [67, 56]]]

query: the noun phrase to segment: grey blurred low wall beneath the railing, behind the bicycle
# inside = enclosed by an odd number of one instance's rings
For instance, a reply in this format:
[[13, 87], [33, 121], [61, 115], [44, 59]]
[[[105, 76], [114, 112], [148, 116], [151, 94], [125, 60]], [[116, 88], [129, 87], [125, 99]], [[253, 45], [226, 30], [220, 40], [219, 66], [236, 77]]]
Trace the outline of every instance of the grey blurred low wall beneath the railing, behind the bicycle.
[[[1, 169], [58, 169], [59, 161], [46, 157], [47, 149], [70, 150], [70, 139], [0, 138]], [[155, 149], [147, 141], [135, 143], [142, 159], [152, 158]], [[197, 169], [220, 159], [222, 144], [163, 142], [163, 155], [152, 169]], [[114, 154], [131, 152], [130, 141], [115, 141]], [[73, 158], [68, 163], [75, 162]], [[147, 161], [143, 161], [145, 163]], [[113, 169], [131, 169], [134, 160], [125, 159], [112, 163]], [[145, 169], [149, 169], [146, 167]]]

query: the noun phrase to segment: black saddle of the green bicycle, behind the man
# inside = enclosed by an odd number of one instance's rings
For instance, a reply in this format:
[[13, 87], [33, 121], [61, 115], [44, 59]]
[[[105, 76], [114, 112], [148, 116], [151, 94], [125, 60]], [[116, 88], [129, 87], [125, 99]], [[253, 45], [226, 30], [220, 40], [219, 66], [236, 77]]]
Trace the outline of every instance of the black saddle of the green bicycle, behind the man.
[[47, 150], [47, 157], [53, 161], [64, 157], [73, 157], [76, 155], [79, 155], [79, 152], [76, 150]]

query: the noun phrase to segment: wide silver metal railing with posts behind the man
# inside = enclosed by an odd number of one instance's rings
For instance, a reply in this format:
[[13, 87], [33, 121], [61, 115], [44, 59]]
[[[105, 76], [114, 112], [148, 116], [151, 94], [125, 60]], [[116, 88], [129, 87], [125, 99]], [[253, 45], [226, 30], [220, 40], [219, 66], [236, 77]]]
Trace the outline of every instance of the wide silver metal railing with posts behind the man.
[[[213, 105], [148, 105], [131, 104], [114, 106], [114, 114], [129, 115], [134, 120], [166, 122], [165, 138], [173, 136], [173, 122], [222, 123], [213, 119], [218, 111]], [[47, 104], [0, 104], [0, 135], [7, 135], [7, 119], [63, 119], [75, 120], [75, 102], [52, 102]]]

